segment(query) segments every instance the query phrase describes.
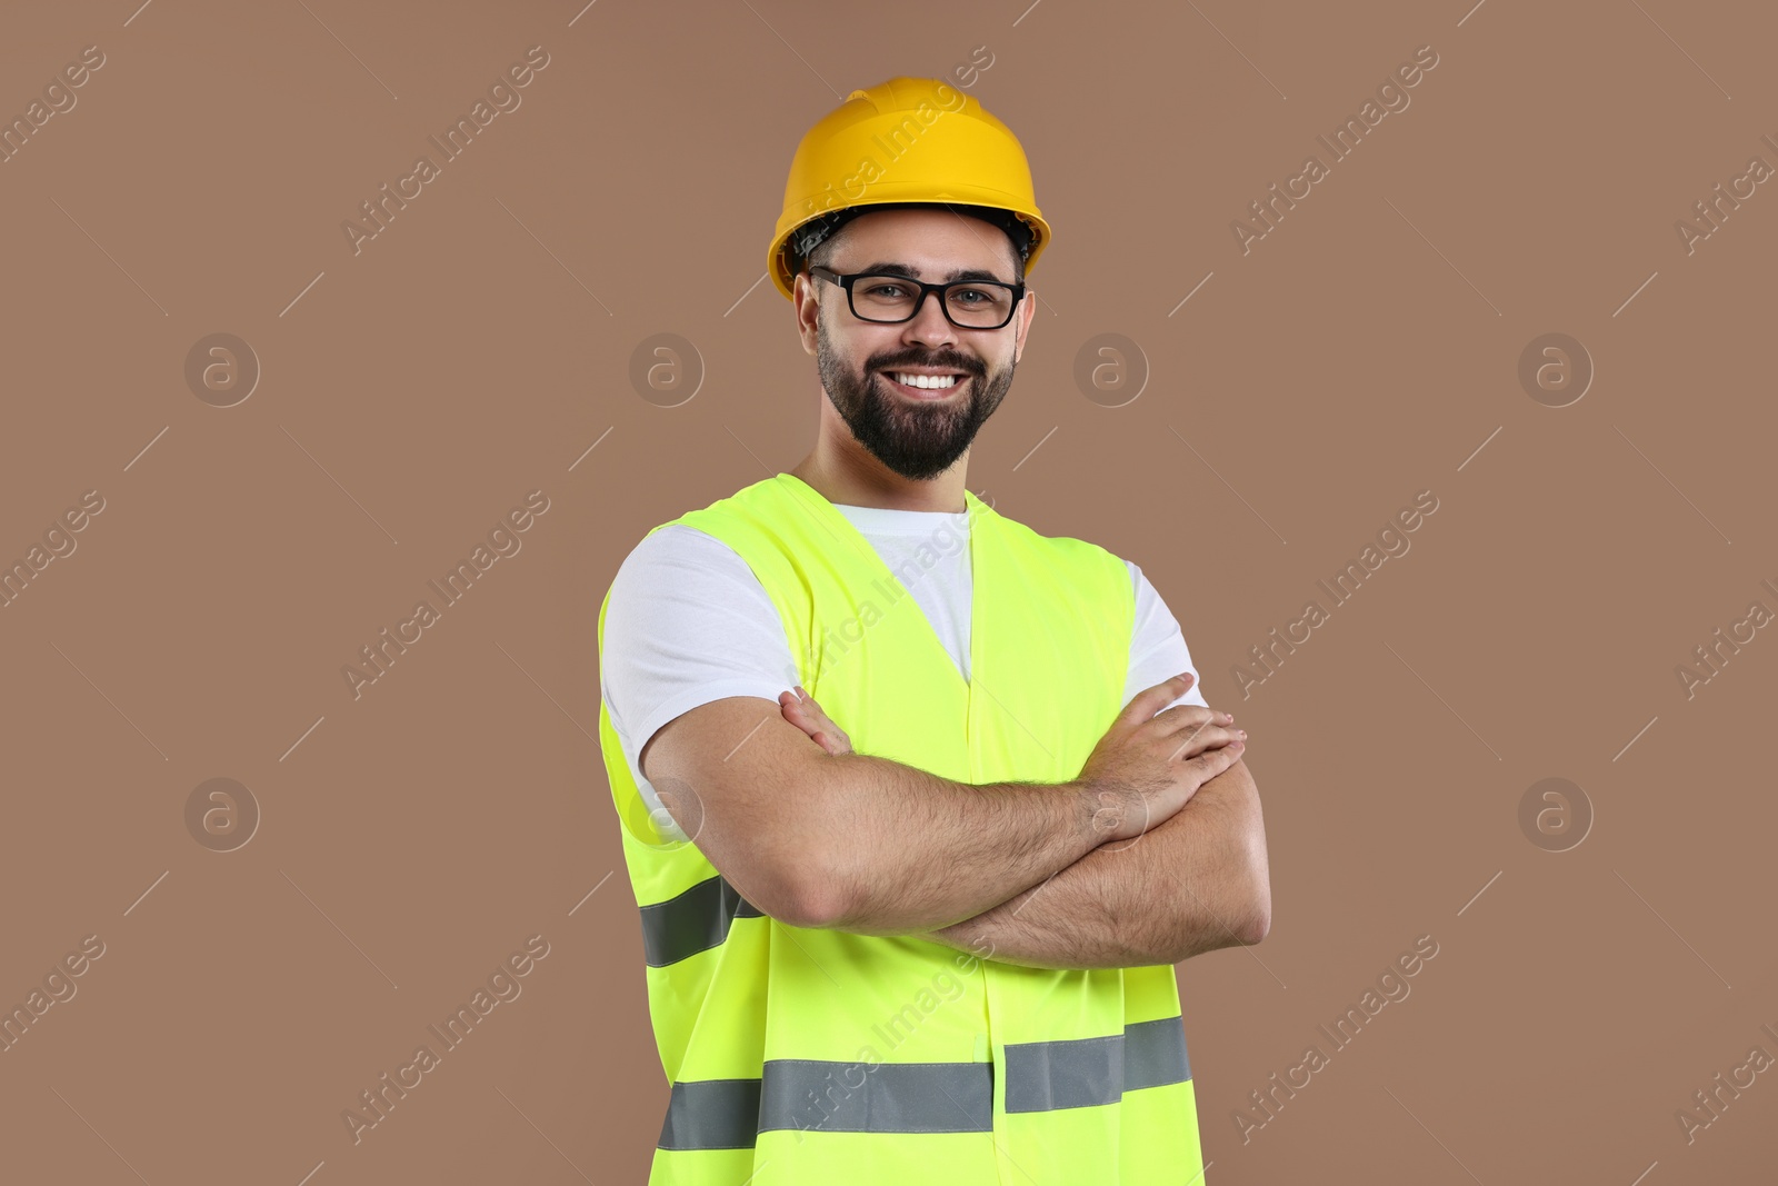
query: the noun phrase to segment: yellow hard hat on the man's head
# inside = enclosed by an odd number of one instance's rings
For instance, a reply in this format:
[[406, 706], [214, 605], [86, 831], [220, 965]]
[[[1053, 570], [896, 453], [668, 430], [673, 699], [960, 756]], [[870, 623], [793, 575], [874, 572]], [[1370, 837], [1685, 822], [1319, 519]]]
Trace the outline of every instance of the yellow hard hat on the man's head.
[[795, 297], [802, 260], [871, 206], [944, 203], [987, 217], [1024, 245], [1026, 272], [1049, 245], [1019, 139], [942, 78], [891, 78], [821, 117], [789, 162], [766, 270]]

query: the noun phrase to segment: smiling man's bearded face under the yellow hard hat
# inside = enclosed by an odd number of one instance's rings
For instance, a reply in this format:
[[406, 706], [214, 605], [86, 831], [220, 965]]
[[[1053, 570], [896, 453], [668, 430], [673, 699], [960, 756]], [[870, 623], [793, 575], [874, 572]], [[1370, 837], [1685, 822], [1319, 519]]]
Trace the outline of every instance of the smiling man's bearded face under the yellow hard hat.
[[[999, 228], [948, 210], [882, 210], [839, 229], [827, 267], [866, 272], [903, 265], [928, 283], [980, 270], [973, 279], [1013, 281], [1012, 240]], [[809, 277], [798, 279], [798, 292]], [[910, 480], [949, 469], [1012, 386], [1031, 320], [1026, 299], [1001, 329], [958, 329], [928, 297], [900, 325], [852, 315], [846, 293], [816, 281], [816, 365], [834, 409], [859, 445]], [[949, 372], [949, 389], [916, 391], [893, 375]]]

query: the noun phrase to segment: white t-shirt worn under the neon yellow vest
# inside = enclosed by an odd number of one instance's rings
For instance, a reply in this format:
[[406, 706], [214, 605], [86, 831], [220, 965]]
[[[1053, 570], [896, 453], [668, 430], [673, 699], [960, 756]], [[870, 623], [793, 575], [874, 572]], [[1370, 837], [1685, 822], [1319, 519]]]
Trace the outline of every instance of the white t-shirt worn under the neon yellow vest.
[[[907, 587], [964, 679], [969, 679], [969, 512], [834, 507], [852, 521]], [[1197, 674], [1179, 622], [1154, 585], [1129, 560], [1136, 624], [1124, 704], [1179, 672]], [[654, 733], [699, 704], [731, 695], [777, 702], [802, 676], [784, 621], [741, 557], [683, 523], [663, 526], [631, 549], [612, 581], [605, 610], [599, 692], [622, 743], [624, 761], [656, 825], [685, 839], [642, 777], [637, 754]], [[1198, 683], [1173, 704], [1205, 704]], [[841, 729], [846, 722], [836, 720]], [[1109, 724], [1109, 722], [1106, 722]]]

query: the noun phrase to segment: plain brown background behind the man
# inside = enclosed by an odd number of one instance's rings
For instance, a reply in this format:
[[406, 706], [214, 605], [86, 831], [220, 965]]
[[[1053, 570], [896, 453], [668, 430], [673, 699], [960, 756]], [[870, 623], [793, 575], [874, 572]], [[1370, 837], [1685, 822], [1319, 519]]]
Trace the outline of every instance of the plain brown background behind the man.
[[[667, 1083], [597, 606], [644, 532], [813, 443], [813, 359], [754, 286], [797, 139], [985, 46], [969, 89], [1056, 238], [969, 487], [1143, 565], [1266, 804], [1271, 935], [1179, 971], [1207, 1181], [1773, 1181], [1778, 1076], [1675, 1120], [1778, 1054], [1778, 640], [1675, 676], [1778, 610], [1778, 194], [1675, 231], [1778, 165], [1766, 5], [135, 5], [0, 34], [7, 116], [105, 53], [0, 165], [0, 558], [105, 501], [0, 610], [0, 1001], [105, 944], [0, 1053], [0, 1177], [644, 1177]], [[341, 222], [537, 44], [523, 105], [354, 252]], [[1424, 44], [1412, 105], [1243, 254], [1230, 220]], [[261, 372], [233, 407], [185, 379], [215, 333]], [[697, 352], [677, 407], [629, 379], [660, 333]], [[1074, 382], [1102, 333], [1147, 365], [1122, 407]], [[1566, 407], [1518, 379], [1547, 333], [1597, 368]], [[523, 549], [354, 699], [359, 647], [533, 489]], [[1412, 549], [1243, 699], [1248, 647], [1422, 489]], [[213, 777], [261, 813], [233, 852], [187, 825]], [[1591, 805], [1566, 852], [1520, 829], [1545, 777]], [[523, 996], [354, 1145], [341, 1111], [535, 934]], [[1412, 996], [1243, 1142], [1419, 935]]]

